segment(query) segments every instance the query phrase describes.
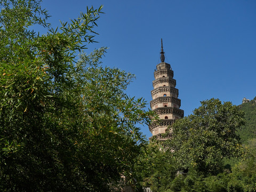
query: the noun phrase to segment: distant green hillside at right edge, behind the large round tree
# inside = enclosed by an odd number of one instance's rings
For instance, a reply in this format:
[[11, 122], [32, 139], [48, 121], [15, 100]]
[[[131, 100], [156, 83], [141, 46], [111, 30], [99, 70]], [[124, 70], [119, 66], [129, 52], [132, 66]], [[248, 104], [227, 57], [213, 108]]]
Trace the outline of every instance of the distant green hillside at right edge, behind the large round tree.
[[246, 143], [249, 139], [256, 138], [256, 97], [249, 101], [242, 103], [239, 106], [245, 112], [245, 126], [238, 131], [241, 141]]

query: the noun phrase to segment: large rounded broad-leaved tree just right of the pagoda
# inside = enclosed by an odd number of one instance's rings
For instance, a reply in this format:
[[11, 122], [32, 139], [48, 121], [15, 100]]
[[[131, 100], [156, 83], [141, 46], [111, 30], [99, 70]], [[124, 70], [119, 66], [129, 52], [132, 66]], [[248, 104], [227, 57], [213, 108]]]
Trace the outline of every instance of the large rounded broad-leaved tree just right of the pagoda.
[[183, 170], [193, 169], [207, 175], [222, 170], [224, 157], [242, 154], [237, 129], [244, 125], [243, 111], [219, 99], [202, 101], [194, 114], [175, 122], [171, 149]]

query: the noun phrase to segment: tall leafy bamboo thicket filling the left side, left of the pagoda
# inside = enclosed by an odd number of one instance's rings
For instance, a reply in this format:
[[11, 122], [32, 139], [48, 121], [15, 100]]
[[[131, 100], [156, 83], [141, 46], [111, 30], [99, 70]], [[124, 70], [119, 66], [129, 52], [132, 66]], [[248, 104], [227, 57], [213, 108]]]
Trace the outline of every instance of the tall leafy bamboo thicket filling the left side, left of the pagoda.
[[[37, 0], [2, 0], [0, 13], [0, 190], [110, 191], [131, 182], [147, 143], [145, 101], [124, 90], [133, 75], [103, 68], [93, 42], [99, 9], [52, 29]], [[49, 32], [35, 33], [41, 25]]]

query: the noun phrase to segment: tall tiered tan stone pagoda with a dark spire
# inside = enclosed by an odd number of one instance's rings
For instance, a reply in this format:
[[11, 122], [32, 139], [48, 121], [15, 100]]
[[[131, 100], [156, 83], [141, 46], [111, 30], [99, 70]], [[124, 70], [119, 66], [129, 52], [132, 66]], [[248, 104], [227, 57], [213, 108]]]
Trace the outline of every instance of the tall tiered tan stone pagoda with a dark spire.
[[164, 62], [163, 41], [161, 39], [161, 63], [156, 66], [153, 81], [154, 90], [151, 91], [152, 101], [150, 107], [159, 116], [159, 122], [149, 125], [150, 132], [156, 135], [158, 140], [171, 138], [171, 132], [163, 137], [168, 126], [176, 119], [184, 116], [184, 111], [180, 109], [179, 90], [175, 88], [176, 80], [173, 78], [173, 70], [169, 63]]

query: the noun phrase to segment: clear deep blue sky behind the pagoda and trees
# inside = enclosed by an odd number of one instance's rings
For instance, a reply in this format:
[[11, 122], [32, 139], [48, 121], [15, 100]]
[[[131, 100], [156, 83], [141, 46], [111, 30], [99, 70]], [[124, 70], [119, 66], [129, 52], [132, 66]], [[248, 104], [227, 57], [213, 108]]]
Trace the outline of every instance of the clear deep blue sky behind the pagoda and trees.
[[[127, 93], [151, 100], [154, 69], [163, 38], [166, 62], [177, 80], [188, 116], [200, 101], [234, 105], [256, 96], [256, 1], [44, 0], [53, 26], [76, 18], [86, 6], [104, 5], [90, 51], [109, 47], [103, 65], [136, 75]], [[149, 106], [148, 106], [149, 107]], [[151, 137], [148, 127], [141, 127]]]

